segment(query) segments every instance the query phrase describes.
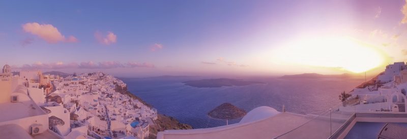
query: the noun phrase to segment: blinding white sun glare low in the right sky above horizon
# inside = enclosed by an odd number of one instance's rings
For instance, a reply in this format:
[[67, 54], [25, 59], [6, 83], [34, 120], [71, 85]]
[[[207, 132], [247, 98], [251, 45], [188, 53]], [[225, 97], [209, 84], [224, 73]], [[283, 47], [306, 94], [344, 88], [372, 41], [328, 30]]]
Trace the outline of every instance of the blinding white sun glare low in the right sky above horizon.
[[346, 37], [295, 41], [274, 51], [274, 57], [285, 64], [339, 68], [354, 73], [385, 63], [380, 50]]

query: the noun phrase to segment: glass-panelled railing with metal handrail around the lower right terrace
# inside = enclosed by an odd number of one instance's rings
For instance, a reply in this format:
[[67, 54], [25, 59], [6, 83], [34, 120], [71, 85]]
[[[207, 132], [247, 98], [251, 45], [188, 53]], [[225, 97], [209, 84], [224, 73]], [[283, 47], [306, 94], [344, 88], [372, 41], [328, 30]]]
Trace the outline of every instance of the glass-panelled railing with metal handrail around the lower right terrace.
[[404, 99], [401, 95], [354, 95], [321, 114], [304, 115], [306, 122], [273, 138], [330, 138], [356, 114], [405, 114]]

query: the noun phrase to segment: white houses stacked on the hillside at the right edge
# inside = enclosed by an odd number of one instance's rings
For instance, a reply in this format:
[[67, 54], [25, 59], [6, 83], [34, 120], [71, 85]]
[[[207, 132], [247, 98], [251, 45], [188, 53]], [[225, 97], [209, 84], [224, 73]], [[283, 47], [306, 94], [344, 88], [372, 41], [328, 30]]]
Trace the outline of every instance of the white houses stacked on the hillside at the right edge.
[[343, 105], [341, 112], [406, 113], [407, 65], [396, 62], [365, 86], [355, 88]]

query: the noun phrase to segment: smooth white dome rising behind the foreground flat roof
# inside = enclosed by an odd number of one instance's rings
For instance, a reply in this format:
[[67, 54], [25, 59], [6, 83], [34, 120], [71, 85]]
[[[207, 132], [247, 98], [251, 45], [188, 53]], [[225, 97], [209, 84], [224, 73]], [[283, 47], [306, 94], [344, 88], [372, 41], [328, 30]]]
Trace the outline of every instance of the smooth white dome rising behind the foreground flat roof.
[[276, 109], [274, 109], [272, 107], [260, 106], [260, 107], [256, 107], [256, 108], [250, 110], [250, 112], [247, 113], [247, 115], [244, 116], [242, 118], [242, 120], [240, 120], [239, 123], [247, 123], [247, 122], [253, 122], [253, 121], [257, 121], [257, 120], [263, 120], [263, 119], [273, 117], [277, 114], [280, 114], [280, 112], [278, 112]]

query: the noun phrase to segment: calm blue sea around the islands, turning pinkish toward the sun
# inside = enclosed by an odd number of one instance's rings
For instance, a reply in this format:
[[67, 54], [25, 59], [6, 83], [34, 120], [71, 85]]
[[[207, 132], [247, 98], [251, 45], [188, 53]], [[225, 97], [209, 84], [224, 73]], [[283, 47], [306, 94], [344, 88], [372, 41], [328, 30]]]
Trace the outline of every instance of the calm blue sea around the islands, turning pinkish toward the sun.
[[[225, 125], [223, 120], [211, 119], [208, 112], [230, 102], [249, 112], [258, 106], [270, 106], [281, 111], [318, 114], [339, 103], [342, 91], [351, 91], [361, 79], [262, 79], [267, 84], [242, 87], [195, 88], [183, 81], [199, 77], [120, 78], [128, 90], [168, 115], [194, 128]], [[230, 120], [237, 123], [240, 119]]]

